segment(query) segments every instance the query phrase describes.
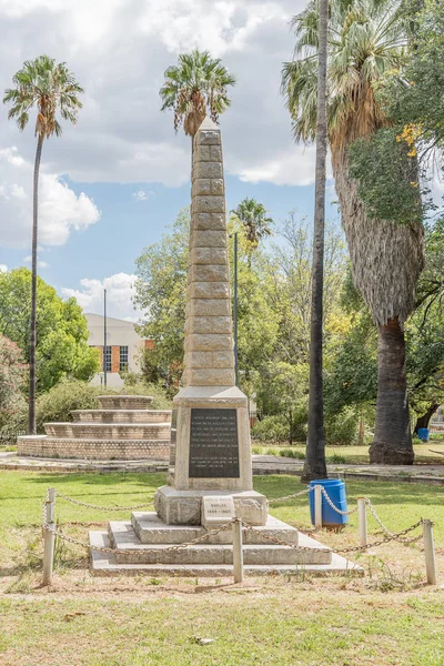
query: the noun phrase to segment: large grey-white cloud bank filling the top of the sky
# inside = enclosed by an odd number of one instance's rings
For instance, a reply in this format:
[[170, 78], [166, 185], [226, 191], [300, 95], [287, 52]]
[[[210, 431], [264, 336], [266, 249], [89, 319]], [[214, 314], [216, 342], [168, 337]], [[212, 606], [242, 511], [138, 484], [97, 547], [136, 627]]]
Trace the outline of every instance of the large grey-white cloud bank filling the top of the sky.
[[[67, 61], [84, 87], [75, 128], [64, 123], [62, 138], [44, 144], [48, 172], [68, 173], [77, 182], [174, 186], [189, 179], [190, 140], [182, 131], [174, 135], [172, 113], [160, 112], [159, 89], [179, 52], [209, 49], [238, 77], [232, 108], [222, 118], [226, 169], [245, 180], [305, 183], [306, 159], [294, 152], [279, 94], [282, 62], [293, 47], [289, 20], [304, 4], [0, 0], [0, 80], [3, 88], [10, 85], [23, 60], [48, 52]], [[20, 133], [12, 122], [0, 123], [0, 148], [12, 144], [32, 163], [32, 127]], [[29, 195], [29, 188], [18, 185]], [[18, 192], [13, 195], [18, 201]]]

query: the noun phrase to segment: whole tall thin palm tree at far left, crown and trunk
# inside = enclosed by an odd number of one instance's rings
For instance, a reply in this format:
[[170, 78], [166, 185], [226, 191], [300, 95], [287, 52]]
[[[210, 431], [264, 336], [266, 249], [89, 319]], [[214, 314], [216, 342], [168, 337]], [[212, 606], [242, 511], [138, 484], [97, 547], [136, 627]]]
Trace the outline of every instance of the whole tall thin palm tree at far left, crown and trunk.
[[29, 363], [29, 413], [28, 434], [36, 434], [36, 310], [37, 310], [37, 242], [38, 242], [38, 195], [40, 160], [44, 139], [53, 134], [60, 137], [62, 128], [57, 112], [63, 120], [77, 122], [81, 108], [78, 94], [83, 92], [64, 62], [56, 64], [48, 56], [27, 60], [13, 77], [14, 88], [4, 91], [3, 103], [10, 103], [8, 118], [14, 118], [21, 131], [28, 124], [29, 112], [37, 108], [37, 150], [33, 175], [33, 223], [32, 223], [32, 281], [31, 281], [31, 326]]

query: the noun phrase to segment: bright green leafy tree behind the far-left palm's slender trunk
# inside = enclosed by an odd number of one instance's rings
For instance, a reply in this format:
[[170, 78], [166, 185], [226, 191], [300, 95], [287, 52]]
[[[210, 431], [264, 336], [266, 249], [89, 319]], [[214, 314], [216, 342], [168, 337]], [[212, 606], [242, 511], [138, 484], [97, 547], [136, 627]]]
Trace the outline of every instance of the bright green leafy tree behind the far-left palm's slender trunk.
[[[29, 362], [32, 275], [28, 269], [0, 273], [0, 333]], [[37, 280], [37, 391], [48, 391], [63, 376], [89, 380], [100, 370], [99, 351], [88, 345], [87, 320], [75, 299], [62, 301], [56, 290]]]

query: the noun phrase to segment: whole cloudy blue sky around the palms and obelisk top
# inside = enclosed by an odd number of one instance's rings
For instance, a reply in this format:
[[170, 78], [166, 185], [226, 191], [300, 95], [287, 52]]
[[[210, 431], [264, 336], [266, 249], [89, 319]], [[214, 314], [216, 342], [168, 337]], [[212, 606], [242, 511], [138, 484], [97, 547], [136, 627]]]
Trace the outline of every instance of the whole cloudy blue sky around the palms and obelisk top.
[[[304, 0], [0, 0], [0, 89], [24, 60], [65, 61], [84, 88], [78, 124], [43, 145], [39, 273], [85, 312], [137, 320], [134, 261], [190, 203], [190, 139], [161, 112], [178, 54], [208, 49], [236, 75], [221, 117], [226, 206], [262, 202], [279, 224], [313, 212], [314, 148], [280, 95], [289, 21]], [[30, 266], [34, 117], [0, 105], [0, 271]], [[334, 198], [334, 196], [333, 196]]]

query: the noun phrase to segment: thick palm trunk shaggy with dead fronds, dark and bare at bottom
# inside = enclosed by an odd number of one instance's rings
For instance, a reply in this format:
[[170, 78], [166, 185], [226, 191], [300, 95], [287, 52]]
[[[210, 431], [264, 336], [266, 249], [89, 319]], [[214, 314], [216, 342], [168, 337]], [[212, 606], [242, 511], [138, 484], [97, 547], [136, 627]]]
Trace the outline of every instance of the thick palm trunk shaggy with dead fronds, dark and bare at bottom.
[[[424, 265], [421, 223], [395, 224], [366, 216], [349, 176], [346, 149], [333, 154], [353, 281], [379, 327], [379, 392], [371, 462], [413, 462], [405, 382], [403, 322], [414, 310], [417, 278]], [[391, 391], [393, 392], [391, 393]], [[389, 434], [384, 434], [384, 430]]]

